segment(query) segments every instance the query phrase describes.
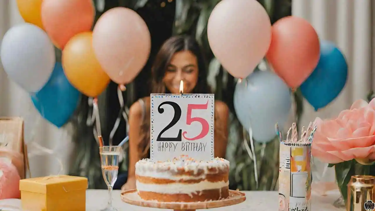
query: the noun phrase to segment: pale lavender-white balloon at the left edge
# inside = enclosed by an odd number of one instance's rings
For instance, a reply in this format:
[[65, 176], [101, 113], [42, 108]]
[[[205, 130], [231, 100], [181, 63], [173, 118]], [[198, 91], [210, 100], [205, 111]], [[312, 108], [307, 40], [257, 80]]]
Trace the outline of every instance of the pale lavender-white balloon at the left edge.
[[28, 92], [42, 89], [56, 62], [54, 45], [48, 35], [28, 23], [5, 33], [0, 58], [8, 77]]

